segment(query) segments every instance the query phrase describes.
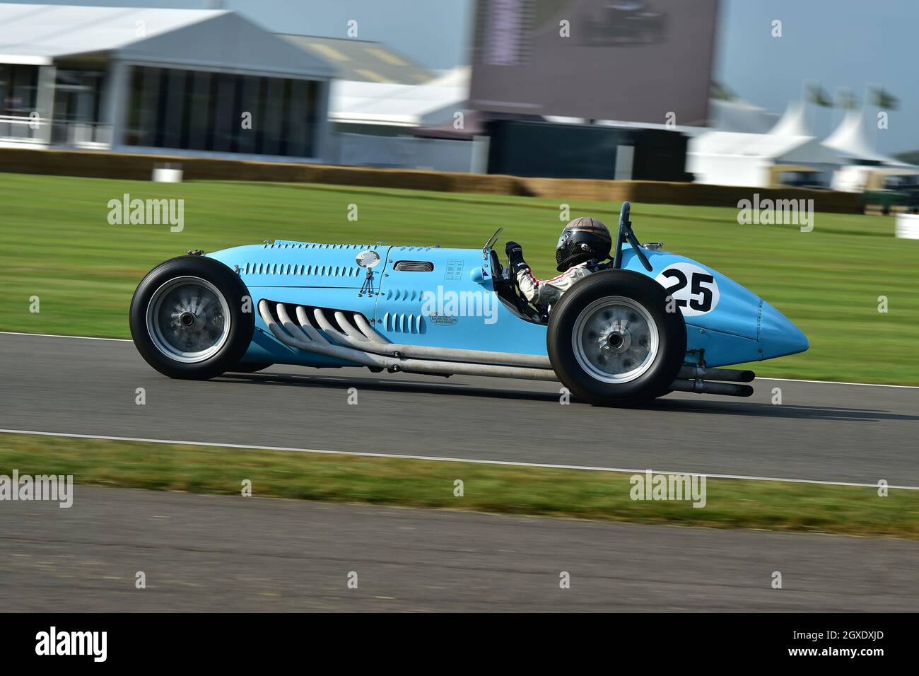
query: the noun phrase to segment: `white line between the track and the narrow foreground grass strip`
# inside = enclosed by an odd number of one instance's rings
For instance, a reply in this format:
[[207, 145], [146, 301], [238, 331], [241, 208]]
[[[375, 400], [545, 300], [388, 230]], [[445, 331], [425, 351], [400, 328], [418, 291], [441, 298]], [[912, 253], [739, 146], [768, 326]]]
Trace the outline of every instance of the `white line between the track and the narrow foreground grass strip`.
[[[437, 457], [435, 455], [406, 455], [401, 453], [364, 453], [359, 451], [328, 451], [323, 449], [312, 448], [290, 448], [288, 446], [258, 446], [246, 443], [220, 443], [210, 441], [178, 441], [174, 439], [148, 439], [145, 437], [113, 437], [102, 434], [75, 434], [73, 432], [48, 432], [40, 430], [2, 430], [3, 434], [33, 434], [41, 437], [66, 437], [69, 439], [98, 439], [101, 441], [139, 441], [142, 443], [168, 443], [183, 446], [212, 446], [215, 448], [233, 448], [244, 451], [281, 451], [285, 453], [316, 453], [322, 455], [349, 455], [366, 458], [399, 458], [402, 460], [429, 460], [439, 463], [471, 463], [471, 464], [494, 464], [512, 467], [541, 467], [544, 469], [571, 469], [584, 470], [588, 472], [619, 472], [622, 474], [639, 474], [643, 475], [648, 471], [645, 469], [628, 469], [625, 467], [595, 467], [583, 464], [543, 464], [543, 463], [522, 463], [512, 460], [473, 460], [471, 458], [451, 458]], [[862, 488], [877, 488], [878, 484], [862, 484], [847, 481], [823, 481], [821, 479], [787, 479], [776, 476], [748, 476], [748, 475], [713, 475], [705, 472], [673, 472], [664, 470], [652, 470], [654, 474], [666, 475], [698, 475], [710, 479], [743, 479], [748, 481], [778, 481], [789, 484], [814, 484], [819, 486], [851, 486]], [[919, 486], [888, 486], [888, 488], [897, 488], [900, 490], [919, 490]]]

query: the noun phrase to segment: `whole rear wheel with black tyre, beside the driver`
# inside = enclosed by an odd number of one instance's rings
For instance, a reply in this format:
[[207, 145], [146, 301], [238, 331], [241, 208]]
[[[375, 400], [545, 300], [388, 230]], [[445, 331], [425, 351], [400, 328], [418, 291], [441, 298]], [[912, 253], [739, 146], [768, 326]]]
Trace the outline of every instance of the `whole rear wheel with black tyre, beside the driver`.
[[607, 270], [577, 282], [552, 308], [549, 359], [576, 397], [625, 406], [665, 395], [686, 356], [686, 323], [664, 287]]

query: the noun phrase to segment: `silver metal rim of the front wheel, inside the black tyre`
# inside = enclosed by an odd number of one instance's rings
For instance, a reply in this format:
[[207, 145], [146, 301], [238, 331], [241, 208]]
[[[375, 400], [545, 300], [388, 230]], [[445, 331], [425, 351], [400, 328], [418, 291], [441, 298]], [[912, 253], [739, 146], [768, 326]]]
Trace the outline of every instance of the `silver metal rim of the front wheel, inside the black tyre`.
[[210, 281], [176, 277], [153, 292], [147, 305], [147, 334], [172, 360], [205, 361], [230, 336], [230, 307]]

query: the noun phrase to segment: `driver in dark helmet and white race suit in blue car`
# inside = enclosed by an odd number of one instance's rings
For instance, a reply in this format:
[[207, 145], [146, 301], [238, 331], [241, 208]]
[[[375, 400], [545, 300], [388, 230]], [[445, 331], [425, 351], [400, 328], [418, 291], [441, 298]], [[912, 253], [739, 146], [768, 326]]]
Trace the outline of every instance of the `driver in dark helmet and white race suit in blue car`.
[[551, 280], [539, 281], [533, 277], [527, 261], [523, 259], [523, 247], [516, 242], [505, 246], [510, 260], [511, 274], [516, 277], [517, 286], [527, 300], [534, 305], [546, 306], [558, 302], [562, 293], [568, 291], [575, 281], [589, 274], [608, 269], [602, 261], [609, 259], [613, 246], [607, 226], [589, 216], [575, 218], [562, 229], [559, 243], [555, 247], [555, 260], [562, 274]]

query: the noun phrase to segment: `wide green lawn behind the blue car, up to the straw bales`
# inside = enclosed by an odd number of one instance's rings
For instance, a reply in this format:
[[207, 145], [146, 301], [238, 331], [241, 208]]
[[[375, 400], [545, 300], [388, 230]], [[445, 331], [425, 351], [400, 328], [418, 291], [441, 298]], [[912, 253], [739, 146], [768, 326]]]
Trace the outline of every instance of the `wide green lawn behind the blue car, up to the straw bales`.
[[[182, 198], [185, 229], [109, 225], [108, 201]], [[497, 227], [540, 275], [553, 273], [558, 200], [235, 182], [178, 185], [0, 174], [0, 330], [129, 336], [130, 295], [147, 270], [191, 248], [289, 238], [481, 246]], [[357, 204], [357, 222], [346, 218]], [[573, 216], [617, 222], [618, 203], [570, 201]], [[764, 376], [919, 384], [919, 242], [890, 217], [818, 213], [813, 232], [740, 225], [732, 208], [636, 204], [643, 241], [719, 269], [766, 298], [811, 339]], [[40, 297], [40, 314], [29, 297]], [[890, 311], [879, 314], [878, 297]]]

